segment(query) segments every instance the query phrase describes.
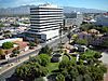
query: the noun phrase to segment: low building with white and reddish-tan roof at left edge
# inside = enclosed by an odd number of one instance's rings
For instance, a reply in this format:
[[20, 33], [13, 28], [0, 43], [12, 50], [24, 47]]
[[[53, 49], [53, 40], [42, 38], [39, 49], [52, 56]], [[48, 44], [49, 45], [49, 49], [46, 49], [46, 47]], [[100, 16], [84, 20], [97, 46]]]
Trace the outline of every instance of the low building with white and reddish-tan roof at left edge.
[[[15, 38], [15, 39], [5, 39], [5, 40], [0, 40], [0, 51], [2, 51], [2, 54], [0, 55], [0, 58], [10, 58], [14, 50], [18, 50], [21, 53], [25, 52], [29, 49], [28, 42], [23, 41], [21, 38]], [[2, 49], [2, 43], [4, 42], [13, 42], [14, 45], [11, 49], [4, 50]]]

